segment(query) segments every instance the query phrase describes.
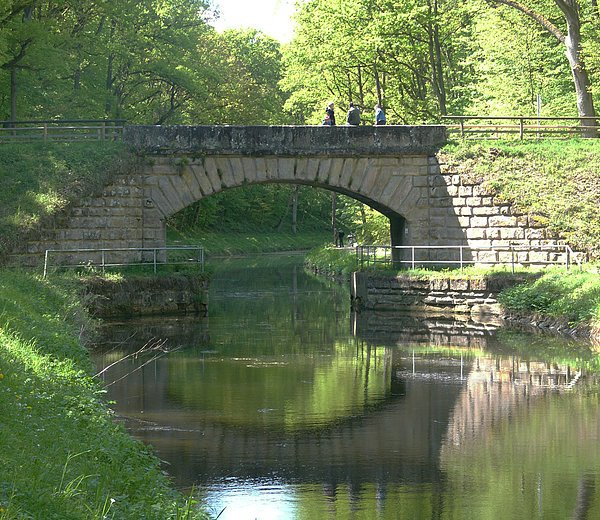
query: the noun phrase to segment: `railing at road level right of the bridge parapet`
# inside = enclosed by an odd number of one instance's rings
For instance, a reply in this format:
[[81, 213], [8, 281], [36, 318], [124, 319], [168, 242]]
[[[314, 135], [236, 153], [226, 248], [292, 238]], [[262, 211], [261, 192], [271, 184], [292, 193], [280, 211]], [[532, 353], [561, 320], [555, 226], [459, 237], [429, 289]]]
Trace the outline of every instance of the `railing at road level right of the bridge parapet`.
[[500, 138], [506, 134], [526, 137], [598, 137], [600, 117], [536, 117], [536, 116], [443, 116], [442, 119], [457, 121], [448, 124], [449, 133], [468, 136]]

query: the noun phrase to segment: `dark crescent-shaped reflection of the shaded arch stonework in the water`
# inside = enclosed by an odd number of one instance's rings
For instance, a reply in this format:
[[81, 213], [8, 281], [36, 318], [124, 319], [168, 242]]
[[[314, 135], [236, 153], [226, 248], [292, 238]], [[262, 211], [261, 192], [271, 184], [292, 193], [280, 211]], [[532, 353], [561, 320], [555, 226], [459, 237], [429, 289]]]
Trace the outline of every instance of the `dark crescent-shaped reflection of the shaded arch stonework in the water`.
[[182, 417], [180, 424], [169, 425], [166, 438], [159, 412], [148, 409], [143, 416], [148, 422], [130, 426], [171, 461], [170, 473], [183, 482], [198, 475], [268, 474], [322, 482], [330, 489], [344, 482], [357, 487], [439, 482], [439, 447], [460, 387], [448, 391], [426, 381], [403, 381], [403, 370], [395, 368], [393, 387], [402, 394], [318, 430], [265, 432]]

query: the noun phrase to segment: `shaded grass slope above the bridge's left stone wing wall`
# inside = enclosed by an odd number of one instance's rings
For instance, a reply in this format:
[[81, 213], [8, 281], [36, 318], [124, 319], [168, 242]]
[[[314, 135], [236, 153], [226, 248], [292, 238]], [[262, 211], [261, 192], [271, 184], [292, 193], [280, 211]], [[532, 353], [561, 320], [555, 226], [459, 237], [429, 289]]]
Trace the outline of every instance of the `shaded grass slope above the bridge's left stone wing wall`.
[[135, 158], [123, 143], [0, 146], [0, 260], [76, 197], [101, 189]]

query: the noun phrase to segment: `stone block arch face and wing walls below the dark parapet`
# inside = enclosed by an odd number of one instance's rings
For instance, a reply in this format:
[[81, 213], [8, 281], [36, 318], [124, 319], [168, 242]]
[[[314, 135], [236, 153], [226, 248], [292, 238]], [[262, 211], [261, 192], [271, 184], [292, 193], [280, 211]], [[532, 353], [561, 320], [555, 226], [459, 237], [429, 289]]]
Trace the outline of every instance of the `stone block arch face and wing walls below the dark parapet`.
[[[405, 219], [402, 245], [467, 246], [464, 260], [476, 263], [565, 262], [564, 253], [556, 249], [508, 251], [511, 245], [541, 248], [559, 245], [560, 240], [481, 184], [440, 164], [437, 156], [412, 153], [399, 157], [156, 156], [137, 173], [117, 178], [102, 193], [73, 204], [64, 218], [43, 231], [42, 239], [24, 243], [15, 261], [41, 265], [47, 249], [164, 247], [165, 222], [175, 212], [213, 193], [262, 182], [330, 188], [400, 215]], [[426, 254], [424, 259], [430, 261], [457, 259], [456, 251]], [[111, 255], [115, 262], [139, 261], [148, 253]], [[99, 253], [91, 252], [53, 253], [50, 258], [51, 265], [99, 261]]]

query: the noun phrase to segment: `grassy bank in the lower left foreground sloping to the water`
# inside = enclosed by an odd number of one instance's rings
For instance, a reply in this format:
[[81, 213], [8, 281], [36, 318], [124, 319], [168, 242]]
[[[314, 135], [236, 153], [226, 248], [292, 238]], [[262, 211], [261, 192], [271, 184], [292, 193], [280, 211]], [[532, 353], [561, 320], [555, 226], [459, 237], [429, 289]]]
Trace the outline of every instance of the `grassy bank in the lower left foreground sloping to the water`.
[[0, 518], [191, 518], [113, 422], [77, 301], [73, 284], [0, 271]]

